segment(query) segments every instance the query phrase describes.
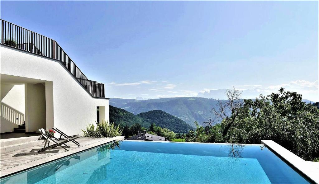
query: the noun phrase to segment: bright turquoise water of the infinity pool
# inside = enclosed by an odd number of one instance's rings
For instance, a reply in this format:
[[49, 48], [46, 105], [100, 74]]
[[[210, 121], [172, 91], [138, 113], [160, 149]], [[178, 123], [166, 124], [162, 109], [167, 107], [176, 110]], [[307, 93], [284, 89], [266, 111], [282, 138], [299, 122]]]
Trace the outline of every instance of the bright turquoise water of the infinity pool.
[[263, 145], [120, 141], [0, 183], [309, 183]]

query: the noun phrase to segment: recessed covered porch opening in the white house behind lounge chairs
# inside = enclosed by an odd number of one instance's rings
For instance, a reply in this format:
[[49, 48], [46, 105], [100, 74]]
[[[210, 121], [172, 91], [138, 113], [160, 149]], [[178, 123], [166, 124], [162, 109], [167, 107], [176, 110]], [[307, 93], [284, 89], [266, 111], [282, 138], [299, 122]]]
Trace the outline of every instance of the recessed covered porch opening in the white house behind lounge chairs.
[[53, 127], [53, 83], [34, 78], [0, 74], [0, 138], [39, 135]]

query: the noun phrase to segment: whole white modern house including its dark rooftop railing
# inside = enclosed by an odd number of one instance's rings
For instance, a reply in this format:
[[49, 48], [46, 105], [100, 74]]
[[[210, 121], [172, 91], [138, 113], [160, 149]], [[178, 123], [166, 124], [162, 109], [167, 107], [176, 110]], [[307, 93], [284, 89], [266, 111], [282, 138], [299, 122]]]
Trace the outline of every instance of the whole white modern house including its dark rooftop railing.
[[26, 133], [55, 126], [70, 135], [109, 122], [104, 84], [87, 79], [55, 40], [1, 20], [0, 47], [1, 133], [24, 121]]

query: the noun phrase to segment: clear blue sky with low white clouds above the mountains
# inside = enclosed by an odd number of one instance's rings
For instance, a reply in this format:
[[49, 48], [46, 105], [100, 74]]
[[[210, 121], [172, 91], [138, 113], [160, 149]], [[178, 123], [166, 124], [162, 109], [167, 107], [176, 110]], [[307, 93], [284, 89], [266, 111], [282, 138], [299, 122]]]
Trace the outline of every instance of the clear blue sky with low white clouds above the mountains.
[[1, 18], [56, 40], [106, 97], [283, 86], [319, 101], [315, 1], [1, 1]]

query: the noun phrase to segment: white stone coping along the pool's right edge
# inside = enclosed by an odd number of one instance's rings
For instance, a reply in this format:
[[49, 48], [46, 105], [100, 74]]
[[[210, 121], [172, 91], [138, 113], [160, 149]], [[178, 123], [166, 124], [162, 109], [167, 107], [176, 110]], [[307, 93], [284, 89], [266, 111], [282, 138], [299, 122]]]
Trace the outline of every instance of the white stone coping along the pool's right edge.
[[315, 183], [319, 184], [319, 162], [305, 161], [272, 140], [262, 140], [261, 143], [277, 153]]

